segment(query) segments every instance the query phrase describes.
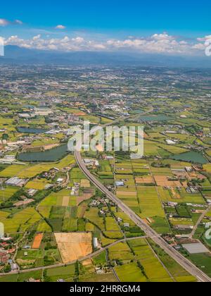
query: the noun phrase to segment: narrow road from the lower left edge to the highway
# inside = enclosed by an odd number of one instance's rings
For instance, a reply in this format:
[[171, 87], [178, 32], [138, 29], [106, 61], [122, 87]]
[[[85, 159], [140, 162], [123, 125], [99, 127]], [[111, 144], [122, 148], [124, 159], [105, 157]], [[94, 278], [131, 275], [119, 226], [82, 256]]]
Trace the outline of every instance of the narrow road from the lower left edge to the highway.
[[24, 269], [24, 270], [18, 270], [18, 271], [11, 271], [9, 273], [0, 273], [0, 277], [1, 276], [9, 276], [11, 274], [18, 274], [18, 273], [26, 273], [26, 272], [30, 272], [30, 271], [40, 271], [40, 270], [45, 270], [45, 269], [55, 269], [56, 267], [64, 267], [64, 266], [68, 266], [68, 265], [72, 265], [75, 264], [77, 261], [84, 261], [87, 259], [90, 259], [92, 257], [95, 257], [98, 254], [101, 254], [103, 251], [106, 251], [107, 249], [109, 249], [110, 247], [113, 247], [114, 245], [119, 244], [120, 242], [127, 242], [128, 240], [137, 240], [139, 238], [147, 238], [147, 236], [137, 236], [135, 238], [123, 238], [122, 240], [117, 240], [116, 242], [113, 242], [112, 244], [106, 246], [106, 247], [102, 247], [101, 249], [98, 249], [96, 252], [91, 253], [85, 257], [82, 257], [78, 260], [73, 260], [70, 261], [66, 264], [53, 264], [53, 265], [49, 265], [49, 266], [41, 266], [41, 267], [35, 267], [34, 269]]

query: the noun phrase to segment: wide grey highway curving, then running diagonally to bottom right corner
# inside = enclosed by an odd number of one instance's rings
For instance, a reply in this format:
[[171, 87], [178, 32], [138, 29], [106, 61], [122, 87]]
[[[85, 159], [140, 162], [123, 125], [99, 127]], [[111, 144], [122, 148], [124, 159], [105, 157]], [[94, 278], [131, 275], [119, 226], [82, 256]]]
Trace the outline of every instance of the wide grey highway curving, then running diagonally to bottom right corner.
[[[150, 111], [148, 111], [150, 112]], [[127, 118], [126, 118], [127, 119]], [[117, 123], [118, 120], [109, 123], [112, 125], [113, 123]], [[119, 121], [122, 121], [122, 118], [119, 118]], [[108, 126], [109, 124], [105, 125]], [[103, 125], [104, 126], [104, 125]], [[92, 133], [94, 134], [99, 127], [94, 128], [92, 130]], [[84, 135], [85, 137], [86, 135]], [[87, 176], [87, 178], [93, 183], [98, 190], [101, 190], [108, 199], [115, 202], [117, 206], [124, 212], [124, 214], [127, 214], [129, 218], [136, 223], [137, 226], [139, 226], [147, 236], [149, 236], [157, 245], [159, 245], [172, 259], [177, 261], [178, 264], [180, 264], [186, 271], [191, 273], [192, 276], [195, 276], [199, 282], [211, 282], [211, 278], [207, 276], [203, 271], [198, 269], [191, 261], [186, 259], [182, 254], [177, 252], [176, 249], [168, 245], [168, 243], [158, 234], [155, 230], [153, 230], [148, 224], [146, 224], [138, 215], [132, 211], [132, 209], [129, 208], [126, 204], [124, 204], [120, 199], [118, 199], [112, 192], [110, 192], [100, 181], [98, 181], [94, 175], [90, 173], [90, 171], [87, 169], [87, 167], [84, 165], [84, 161], [82, 159], [82, 155], [80, 153], [79, 147], [81, 147], [82, 143], [77, 143], [75, 147], [75, 159], [77, 161], [77, 164], [79, 168], [82, 170], [84, 175]]]

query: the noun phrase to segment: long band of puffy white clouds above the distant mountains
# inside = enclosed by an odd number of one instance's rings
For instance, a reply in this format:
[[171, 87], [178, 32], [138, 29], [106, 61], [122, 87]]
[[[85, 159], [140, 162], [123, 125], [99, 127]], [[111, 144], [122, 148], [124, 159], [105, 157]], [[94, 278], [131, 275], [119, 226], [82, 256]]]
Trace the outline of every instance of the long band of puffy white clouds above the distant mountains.
[[58, 50], [58, 51], [136, 51], [139, 53], [174, 54], [174, 55], [198, 55], [204, 54], [205, 40], [207, 37], [199, 37], [194, 42], [163, 34], [154, 34], [148, 37], [129, 37], [127, 39], [91, 39], [81, 36], [62, 38], [43, 38], [36, 35], [31, 39], [21, 39], [11, 36], [6, 39], [6, 44], [15, 44], [20, 47]]

